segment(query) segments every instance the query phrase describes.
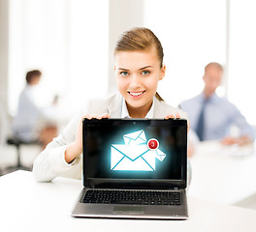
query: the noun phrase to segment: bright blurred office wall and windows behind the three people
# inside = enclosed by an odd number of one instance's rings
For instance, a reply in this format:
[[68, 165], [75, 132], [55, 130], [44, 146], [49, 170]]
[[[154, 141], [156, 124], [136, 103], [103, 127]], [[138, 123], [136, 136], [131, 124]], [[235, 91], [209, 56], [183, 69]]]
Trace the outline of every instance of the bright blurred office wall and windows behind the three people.
[[12, 121], [33, 69], [43, 72], [42, 101], [58, 95], [65, 119], [87, 99], [115, 92], [114, 44], [121, 32], [145, 26], [164, 47], [158, 92], [166, 102], [199, 94], [204, 67], [218, 62], [225, 68], [218, 94], [256, 125], [255, 12], [254, 0], [0, 0], [1, 117]]

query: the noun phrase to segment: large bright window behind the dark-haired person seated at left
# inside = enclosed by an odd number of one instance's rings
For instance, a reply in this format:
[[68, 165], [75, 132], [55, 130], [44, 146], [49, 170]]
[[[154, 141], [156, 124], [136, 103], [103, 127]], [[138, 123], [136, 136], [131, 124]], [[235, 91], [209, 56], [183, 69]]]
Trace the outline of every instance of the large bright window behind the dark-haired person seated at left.
[[25, 73], [32, 69], [43, 72], [42, 100], [59, 95], [67, 114], [87, 99], [106, 95], [108, 38], [108, 1], [11, 0], [11, 114], [16, 113]]

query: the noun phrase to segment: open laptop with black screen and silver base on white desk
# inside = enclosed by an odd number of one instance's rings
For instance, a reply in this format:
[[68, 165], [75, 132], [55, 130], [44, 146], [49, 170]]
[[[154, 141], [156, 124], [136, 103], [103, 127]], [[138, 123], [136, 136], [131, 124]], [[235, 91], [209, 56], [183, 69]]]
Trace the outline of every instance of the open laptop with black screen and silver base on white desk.
[[84, 119], [73, 217], [186, 219], [187, 121]]

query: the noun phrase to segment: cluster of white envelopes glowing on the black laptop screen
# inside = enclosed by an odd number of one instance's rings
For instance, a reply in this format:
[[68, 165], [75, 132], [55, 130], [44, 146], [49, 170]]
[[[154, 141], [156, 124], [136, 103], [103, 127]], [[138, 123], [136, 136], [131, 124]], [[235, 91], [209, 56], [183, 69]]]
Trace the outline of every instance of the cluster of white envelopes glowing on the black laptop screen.
[[166, 154], [148, 149], [144, 130], [123, 136], [125, 144], [112, 144], [111, 170], [154, 171], [155, 159], [163, 161]]

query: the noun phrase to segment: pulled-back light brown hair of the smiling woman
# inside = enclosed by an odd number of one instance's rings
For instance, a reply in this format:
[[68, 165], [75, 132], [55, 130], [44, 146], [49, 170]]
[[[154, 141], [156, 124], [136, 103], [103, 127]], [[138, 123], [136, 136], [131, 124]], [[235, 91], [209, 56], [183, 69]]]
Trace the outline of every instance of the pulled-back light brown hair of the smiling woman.
[[[118, 51], [144, 51], [151, 48], [155, 48], [160, 61], [160, 68], [162, 68], [164, 58], [162, 44], [151, 30], [144, 27], [136, 27], [122, 33], [115, 45], [114, 55]], [[157, 92], [155, 97], [159, 101], [164, 101]]]

